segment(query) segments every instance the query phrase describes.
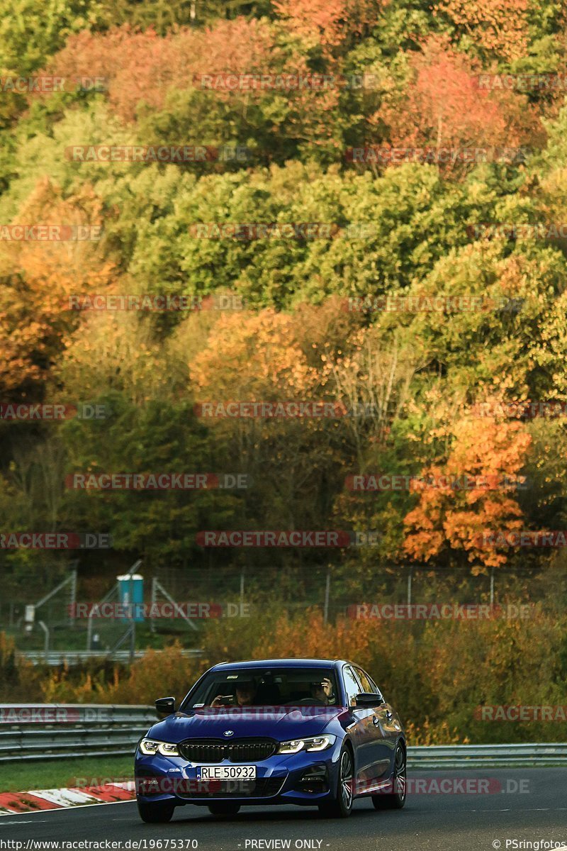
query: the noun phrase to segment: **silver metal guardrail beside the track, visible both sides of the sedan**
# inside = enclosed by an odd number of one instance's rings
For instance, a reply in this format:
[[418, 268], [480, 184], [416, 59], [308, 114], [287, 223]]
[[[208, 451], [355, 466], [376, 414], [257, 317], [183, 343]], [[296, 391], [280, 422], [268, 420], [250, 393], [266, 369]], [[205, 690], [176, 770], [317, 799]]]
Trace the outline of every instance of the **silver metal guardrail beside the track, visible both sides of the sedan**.
[[[132, 755], [156, 710], [145, 705], [0, 704], [0, 762]], [[408, 768], [567, 766], [567, 744], [410, 746]]]

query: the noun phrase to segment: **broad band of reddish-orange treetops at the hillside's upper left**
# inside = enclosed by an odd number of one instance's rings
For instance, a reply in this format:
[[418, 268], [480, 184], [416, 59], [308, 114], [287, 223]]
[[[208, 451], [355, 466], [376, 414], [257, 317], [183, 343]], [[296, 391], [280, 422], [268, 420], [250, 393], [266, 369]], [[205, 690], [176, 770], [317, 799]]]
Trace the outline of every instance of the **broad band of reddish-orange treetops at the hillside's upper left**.
[[[63, 77], [106, 77], [111, 108], [124, 121], [133, 122], [139, 105], [152, 111], [166, 106], [174, 90], [207, 89], [203, 75], [308, 74], [307, 57], [290, 45], [281, 47], [281, 32], [265, 20], [221, 20], [205, 31], [182, 29], [159, 37], [154, 31], [134, 32], [128, 26], [104, 35], [82, 32], [70, 37], [65, 49], [54, 57], [49, 71]], [[267, 115], [275, 96], [285, 98], [286, 109], [275, 111], [273, 132], [285, 133], [286, 122], [293, 138], [314, 146], [332, 142], [328, 111], [337, 106], [337, 89], [208, 89], [219, 100], [230, 102], [247, 121], [249, 106], [267, 101]], [[222, 129], [219, 118], [219, 129]], [[177, 141], [177, 140], [176, 140]], [[203, 144], [206, 144], [203, 142]], [[339, 142], [334, 143], [339, 146]]]

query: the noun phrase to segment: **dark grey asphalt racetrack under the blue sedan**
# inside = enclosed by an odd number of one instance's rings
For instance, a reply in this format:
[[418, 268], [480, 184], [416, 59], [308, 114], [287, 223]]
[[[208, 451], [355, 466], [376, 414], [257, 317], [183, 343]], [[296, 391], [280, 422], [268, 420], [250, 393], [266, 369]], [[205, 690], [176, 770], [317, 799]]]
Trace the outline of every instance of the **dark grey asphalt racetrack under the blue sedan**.
[[[316, 808], [287, 806], [246, 807], [233, 817], [215, 818], [207, 808], [186, 806], [176, 809], [167, 825], [145, 825], [135, 802], [3, 816], [0, 849], [37, 851], [84, 840], [120, 842], [114, 848], [122, 851], [545, 851], [567, 846], [567, 768], [408, 773], [414, 785], [417, 777], [437, 784], [410, 791], [400, 811], [377, 812], [369, 799], [360, 799], [346, 820], [323, 819]], [[488, 777], [489, 793], [434, 791], [443, 779]]]

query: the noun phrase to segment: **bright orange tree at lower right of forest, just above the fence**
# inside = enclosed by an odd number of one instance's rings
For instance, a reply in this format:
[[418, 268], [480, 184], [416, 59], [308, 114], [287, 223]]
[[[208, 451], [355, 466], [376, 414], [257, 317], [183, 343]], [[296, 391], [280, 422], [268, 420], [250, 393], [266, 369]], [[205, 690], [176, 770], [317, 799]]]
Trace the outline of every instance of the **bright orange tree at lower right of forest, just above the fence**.
[[[428, 562], [446, 550], [465, 551], [473, 574], [498, 567], [507, 556], [483, 547], [486, 532], [522, 527], [522, 511], [511, 495], [524, 465], [531, 437], [518, 421], [459, 420], [453, 427], [453, 444], [445, 465], [422, 472], [426, 481], [417, 506], [405, 516], [404, 549], [412, 558]], [[461, 488], [440, 486], [468, 477]], [[507, 484], [510, 483], [510, 484]]]

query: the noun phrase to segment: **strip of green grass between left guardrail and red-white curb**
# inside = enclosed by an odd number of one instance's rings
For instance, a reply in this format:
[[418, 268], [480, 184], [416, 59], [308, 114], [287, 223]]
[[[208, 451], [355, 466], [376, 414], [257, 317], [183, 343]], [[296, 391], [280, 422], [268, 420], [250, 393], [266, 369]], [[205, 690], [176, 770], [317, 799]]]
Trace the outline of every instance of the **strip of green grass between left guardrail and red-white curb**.
[[113, 780], [133, 780], [133, 756], [0, 762], [0, 792], [65, 789]]

